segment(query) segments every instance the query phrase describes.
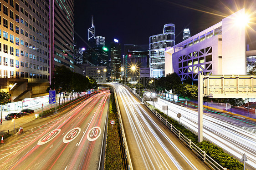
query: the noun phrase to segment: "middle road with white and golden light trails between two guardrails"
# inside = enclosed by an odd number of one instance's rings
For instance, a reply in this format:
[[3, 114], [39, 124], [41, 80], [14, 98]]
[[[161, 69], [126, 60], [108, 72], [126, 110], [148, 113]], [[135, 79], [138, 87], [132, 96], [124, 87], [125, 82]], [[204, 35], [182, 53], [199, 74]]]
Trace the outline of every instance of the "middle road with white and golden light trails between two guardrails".
[[208, 169], [125, 87], [114, 88], [134, 170]]

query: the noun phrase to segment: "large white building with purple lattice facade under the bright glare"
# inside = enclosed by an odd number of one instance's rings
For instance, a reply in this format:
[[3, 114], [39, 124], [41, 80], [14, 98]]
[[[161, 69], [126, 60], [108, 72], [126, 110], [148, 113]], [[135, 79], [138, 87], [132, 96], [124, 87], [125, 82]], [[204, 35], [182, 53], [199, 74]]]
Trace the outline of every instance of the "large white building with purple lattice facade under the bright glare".
[[224, 18], [187, 40], [165, 48], [165, 75], [176, 72], [182, 80], [204, 75], [245, 75], [245, 25], [237, 19], [245, 9]]

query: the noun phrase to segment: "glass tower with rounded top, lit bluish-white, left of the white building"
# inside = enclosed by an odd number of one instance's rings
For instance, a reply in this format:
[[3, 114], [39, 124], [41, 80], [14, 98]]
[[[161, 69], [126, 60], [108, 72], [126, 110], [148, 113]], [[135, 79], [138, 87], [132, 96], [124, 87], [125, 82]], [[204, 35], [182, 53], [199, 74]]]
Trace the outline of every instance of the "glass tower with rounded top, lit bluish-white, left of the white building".
[[163, 34], [149, 37], [149, 67], [151, 77], [165, 75], [164, 50], [175, 45], [175, 25], [165, 24]]

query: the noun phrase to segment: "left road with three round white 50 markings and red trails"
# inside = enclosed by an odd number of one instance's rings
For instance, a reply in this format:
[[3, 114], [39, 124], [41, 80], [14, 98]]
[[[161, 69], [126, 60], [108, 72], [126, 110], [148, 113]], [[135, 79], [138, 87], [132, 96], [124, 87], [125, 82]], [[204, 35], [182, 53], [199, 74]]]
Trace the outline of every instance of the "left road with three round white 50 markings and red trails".
[[108, 91], [98, 93], [7, 141], [0, 146], [0, 169], [102, 169], [108, 101]]

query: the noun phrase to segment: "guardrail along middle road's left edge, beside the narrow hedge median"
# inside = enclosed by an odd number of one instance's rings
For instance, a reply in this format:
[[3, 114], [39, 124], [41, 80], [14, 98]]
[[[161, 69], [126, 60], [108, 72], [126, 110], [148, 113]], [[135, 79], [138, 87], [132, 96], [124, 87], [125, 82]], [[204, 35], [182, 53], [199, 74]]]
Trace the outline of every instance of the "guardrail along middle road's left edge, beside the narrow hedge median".
[[120, 124], [120, 127], [121, 127], [120, 129], [121, 129], [121, 136], [122, 136], [122, 139], [123, 139], [123, 147], [125, 149], [125, 159], [127, 159], [127, 161], [128, 161], [128, 170], [133, 170], [132, 160], [131, 160], [131, 156], [130, 156], [130, 153], [129, 153], [129, 150], [128, 150], [127, 140], [126, 140], [126, 137], [125, 137], [125, 134], [124, 134], [123, 122], [122, 122], [122, 118], [121, 118], [121, 112], [120, 112], [120, 109], [119, 109], [116, 89], [115, 89], [114, 86], [112, 86], [112, 87], [114, 89], [114, 96], [115, 96], [116, 106], [117, 106], [117, 110], [118, 110], [118, 120], [119, 120], [119, 124]]

